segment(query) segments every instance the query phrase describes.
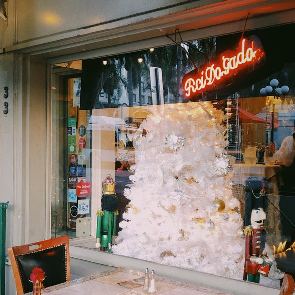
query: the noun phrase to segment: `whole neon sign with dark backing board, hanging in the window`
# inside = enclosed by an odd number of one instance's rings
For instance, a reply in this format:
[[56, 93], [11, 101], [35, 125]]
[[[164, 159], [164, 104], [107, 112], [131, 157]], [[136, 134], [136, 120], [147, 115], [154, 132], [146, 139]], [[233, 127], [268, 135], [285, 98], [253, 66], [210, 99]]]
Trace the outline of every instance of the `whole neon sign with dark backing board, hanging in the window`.
[[186, 74], [182, 80], [184, 96], [191, 99], [223, 89], [261, 67], [264, 62], [265, 52], [259, 38], [244, 38], [234, 48]]

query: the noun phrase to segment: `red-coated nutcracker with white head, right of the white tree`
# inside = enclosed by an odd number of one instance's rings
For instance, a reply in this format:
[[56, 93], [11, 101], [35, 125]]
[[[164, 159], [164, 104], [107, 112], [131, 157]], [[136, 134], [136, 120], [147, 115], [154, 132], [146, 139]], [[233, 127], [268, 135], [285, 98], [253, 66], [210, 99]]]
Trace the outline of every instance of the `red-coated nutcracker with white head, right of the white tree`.
[[262, 208], [251, 212], [251, 225], [245, 227], [245, 267], [243, 280], [259, 283], [259, 268], [263, 264], [262, 258], [262, 232], [264, 230], [266, 213]]

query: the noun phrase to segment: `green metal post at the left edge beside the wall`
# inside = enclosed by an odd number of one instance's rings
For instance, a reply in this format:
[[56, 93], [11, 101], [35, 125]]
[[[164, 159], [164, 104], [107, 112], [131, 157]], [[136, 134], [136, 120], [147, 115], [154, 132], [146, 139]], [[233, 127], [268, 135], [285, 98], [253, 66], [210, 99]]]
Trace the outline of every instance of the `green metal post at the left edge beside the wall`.
[[5, 295], [5, 260], [6, 260], [6, 209], [8, 203], [0, 203], [0, 294]]

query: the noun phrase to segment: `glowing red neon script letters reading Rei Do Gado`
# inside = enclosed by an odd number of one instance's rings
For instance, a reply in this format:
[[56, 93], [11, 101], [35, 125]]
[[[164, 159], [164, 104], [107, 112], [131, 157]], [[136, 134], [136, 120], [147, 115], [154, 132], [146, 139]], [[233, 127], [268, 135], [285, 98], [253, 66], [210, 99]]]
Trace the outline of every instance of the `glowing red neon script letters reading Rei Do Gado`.
[[[246, 39], [243, 39], [240, 46], [240, 51], [231, 57], [223, 55], [221, 57], [221, 65], [214, 63], [208, 66], [201, 74], [197, 72], [198, 76], [188, 77], [183, 82], [185, 96], [190, 97], [193, 93], [205, 89], [207, 86], [213, 85], [216, 81], [223, 77], [230, 78], [236, 73], [236, 69], [244, 68], [247, 63], [259, 61], [264, 55], [263, 50], [254, 50], [254, 41], [252, 40], [250, 46], [245, 48]], [[231, 51], [232, 52], [232, 51]]]

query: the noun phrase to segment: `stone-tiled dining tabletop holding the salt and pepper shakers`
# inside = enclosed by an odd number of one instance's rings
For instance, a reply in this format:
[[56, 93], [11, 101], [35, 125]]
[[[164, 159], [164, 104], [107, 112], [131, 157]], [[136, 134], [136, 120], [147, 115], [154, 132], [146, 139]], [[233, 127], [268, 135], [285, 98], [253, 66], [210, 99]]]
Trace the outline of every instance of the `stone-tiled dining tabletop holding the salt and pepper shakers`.
[[[143, 290], [145, 273], [118, 267], [42, 289], [46, 295], [231, 295], [203, 286], [156, 276], [155, 293]], [[32, 292], [26, 295], [32, 295]]]

